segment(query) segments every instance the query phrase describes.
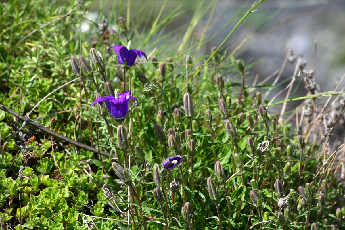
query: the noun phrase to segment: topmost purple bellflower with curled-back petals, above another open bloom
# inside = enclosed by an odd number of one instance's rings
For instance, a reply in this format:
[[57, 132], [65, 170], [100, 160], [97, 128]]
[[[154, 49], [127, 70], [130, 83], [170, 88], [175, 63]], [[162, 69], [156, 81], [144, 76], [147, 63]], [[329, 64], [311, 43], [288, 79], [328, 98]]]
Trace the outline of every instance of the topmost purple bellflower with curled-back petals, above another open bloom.
[[142, 52], [141, 50], [128, 50], [127, 47], [125, 46], [111, 46], [108, 49], [108, 53], [111, 49], [114, 49], [115, 53], [119, 53], [118, 59], [121, 65], [125, 64], [125, 59], [126, 59], [127, 66], [125, 67], [132, 66], [137, 56], [139, 56], [140, 58], [144, 56], [147, 61], [146, 53]]

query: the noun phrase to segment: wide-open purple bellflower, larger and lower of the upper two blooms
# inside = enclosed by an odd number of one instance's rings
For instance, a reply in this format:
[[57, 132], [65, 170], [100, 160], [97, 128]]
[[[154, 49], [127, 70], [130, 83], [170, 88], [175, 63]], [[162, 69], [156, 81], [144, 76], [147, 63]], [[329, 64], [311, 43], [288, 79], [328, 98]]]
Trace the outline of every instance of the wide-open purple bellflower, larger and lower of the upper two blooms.
[[[116, 119], [121, 119], [124, 118], [126, 116], [126, 113], [128, 112], [128, 102], [129, 99], [134, 99], [137, 101], [137, 104], [135, 106], [138, 105], [138, 100], [133, 97], [130, 96], [131, 91], [125, 92], [125, 93], [119, 93], [117, 94], [117, 98], [112, 97], [112, 96], [107, 96], [107, 97], [100, 97], [97, 98], [92, 104], [91, 106], [93, 106], [96, 103], [99, 103], [101, 106], [103, 105], [103, 102], [106, 103], [107, 108], [109, 113], [115, 117]], [[132, 106], [134, 107], [134, 106]]]

